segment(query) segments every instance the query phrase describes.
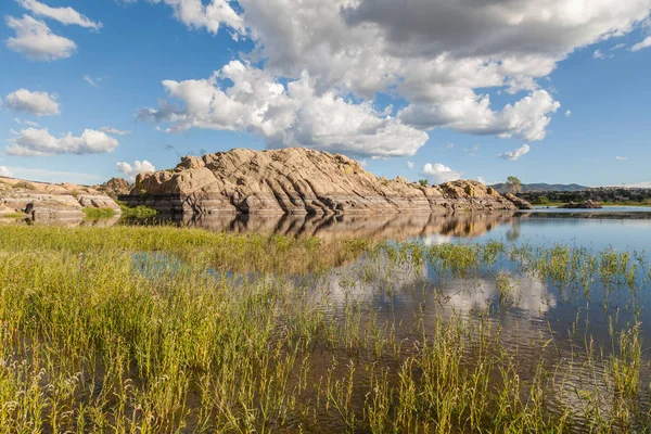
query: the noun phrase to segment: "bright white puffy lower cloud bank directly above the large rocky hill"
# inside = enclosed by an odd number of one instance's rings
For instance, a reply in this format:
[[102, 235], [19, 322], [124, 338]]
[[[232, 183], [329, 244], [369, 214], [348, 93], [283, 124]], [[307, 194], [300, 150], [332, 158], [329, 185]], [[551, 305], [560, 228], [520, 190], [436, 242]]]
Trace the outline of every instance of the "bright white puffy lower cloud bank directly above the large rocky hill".
[[[228, 80], [230, 87], [221, 89]], [[306, 146], [366, 156], [413, 155], [427, 135], [379, 112], [368, 102], [352, 102], [335, 91], [318, 94], [307, 73], [286, 87], [268, 72], [232, 61], [204, 80], [165, 80], [179, 108], [161, 103], [138, 118], [169, 123], [168, 131], [192, 127], [247, 130], [269, 146]]]

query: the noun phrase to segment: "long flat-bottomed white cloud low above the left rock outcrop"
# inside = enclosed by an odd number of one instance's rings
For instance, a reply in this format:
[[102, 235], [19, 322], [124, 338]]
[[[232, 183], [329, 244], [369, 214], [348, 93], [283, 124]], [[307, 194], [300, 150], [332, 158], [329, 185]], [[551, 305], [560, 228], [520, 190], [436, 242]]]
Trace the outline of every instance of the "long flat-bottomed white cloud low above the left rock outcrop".
[[86, 129], [80, 137], [72, 132], [56, 139], [47, 128], [27, 128], [12, 139], [12, 144], [4, 150], [9, 155], [47, 156], [55, 154], [99, 154], [113, 152], [119, 142], [102, 131]]

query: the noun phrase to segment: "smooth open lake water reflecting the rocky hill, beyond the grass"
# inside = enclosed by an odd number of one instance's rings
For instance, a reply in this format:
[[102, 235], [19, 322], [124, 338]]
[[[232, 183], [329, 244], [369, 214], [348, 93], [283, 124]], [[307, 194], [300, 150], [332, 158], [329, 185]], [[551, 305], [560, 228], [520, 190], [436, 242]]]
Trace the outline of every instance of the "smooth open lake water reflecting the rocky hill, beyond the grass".
[[535, 245], [562, 243], [595, 250], [651, 248], [651, 207], [537, 208], [532, 212], [456, 215], [163, 216], [155, 221], [218, 232], [419, 240], [429, 245], [494, 240]]

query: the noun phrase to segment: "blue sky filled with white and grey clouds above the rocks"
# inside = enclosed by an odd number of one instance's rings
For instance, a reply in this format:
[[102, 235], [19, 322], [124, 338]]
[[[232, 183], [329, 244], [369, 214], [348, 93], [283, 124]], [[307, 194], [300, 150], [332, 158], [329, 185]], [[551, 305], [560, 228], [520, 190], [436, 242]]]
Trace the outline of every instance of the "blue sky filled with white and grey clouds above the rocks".
[[651, 188], [651, 0], [1, 0], [0, 176], [306, 146]]

